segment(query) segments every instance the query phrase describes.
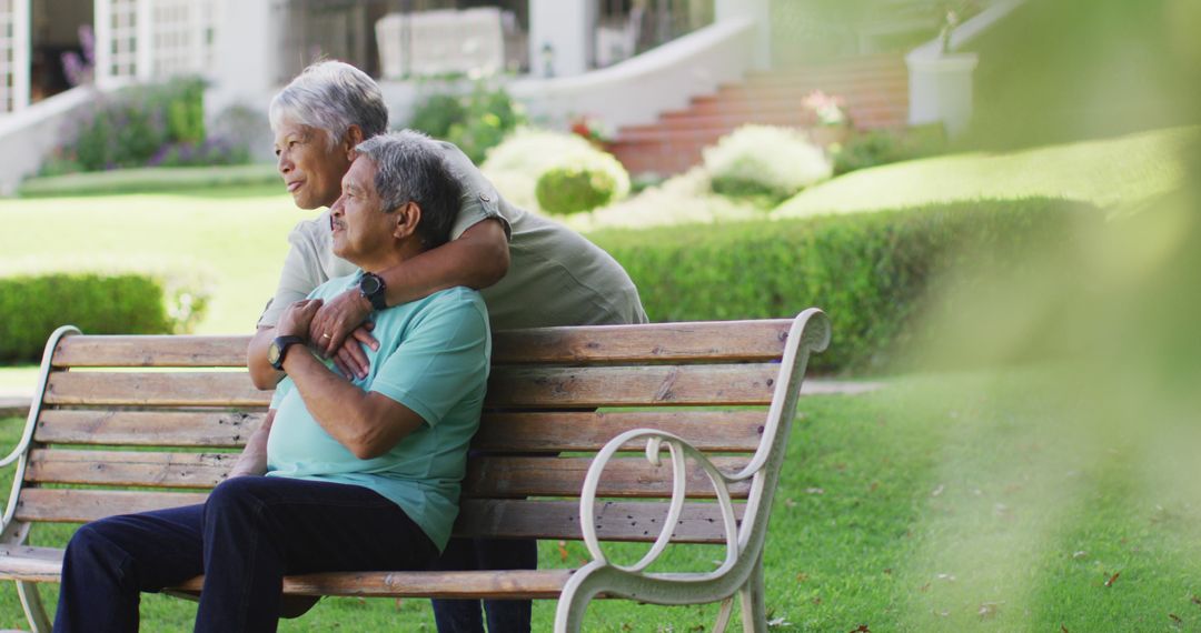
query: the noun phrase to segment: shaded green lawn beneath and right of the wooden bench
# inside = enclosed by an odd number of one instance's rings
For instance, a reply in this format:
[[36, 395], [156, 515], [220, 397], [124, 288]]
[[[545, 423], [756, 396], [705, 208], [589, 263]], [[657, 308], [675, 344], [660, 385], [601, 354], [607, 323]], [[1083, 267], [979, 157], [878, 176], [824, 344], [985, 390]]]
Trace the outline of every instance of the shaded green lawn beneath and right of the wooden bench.
[[[1060, 378], [1048, 369], [912, 376], [867, 396], [803, 399], [766, 554], [778, 629], [1201, 628], [1194, 426], [1131, 421], [1106, 430], [1085, 420], [1078, 394], [1057, 396], [1068, 385]], [[0, 428], [6, 444], [18, 430], [18, 421]], [[548, 567], [579, 565], [582, 554], [570, 543], [564, 563], [556, 543], [542, 547]], [[687, 568], [719, 557], [713, 548], [673, 553]], [[148, 631], [187, 629], [195, 614], [160, 596], [143, 603]], [[534, 629], [546, 631], [552, 613], [552, 602], [536, 603]], [[704, 631], [713, 614], [599, 602], [586, 628]], [[282, 629], [432, 629], [431, 621], [426, 601], [346, 598]], [[0, 627], [20, 625], [10, 586], [0, 591]]]

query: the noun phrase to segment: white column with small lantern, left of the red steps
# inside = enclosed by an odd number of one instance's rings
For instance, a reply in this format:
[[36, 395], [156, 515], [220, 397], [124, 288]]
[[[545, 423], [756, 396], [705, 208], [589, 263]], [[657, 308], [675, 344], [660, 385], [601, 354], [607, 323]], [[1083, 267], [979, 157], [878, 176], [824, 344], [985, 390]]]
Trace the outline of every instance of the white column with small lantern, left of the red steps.
[[596, 13], [593, 0], [530, 0], [530, 73], [586, 73]]

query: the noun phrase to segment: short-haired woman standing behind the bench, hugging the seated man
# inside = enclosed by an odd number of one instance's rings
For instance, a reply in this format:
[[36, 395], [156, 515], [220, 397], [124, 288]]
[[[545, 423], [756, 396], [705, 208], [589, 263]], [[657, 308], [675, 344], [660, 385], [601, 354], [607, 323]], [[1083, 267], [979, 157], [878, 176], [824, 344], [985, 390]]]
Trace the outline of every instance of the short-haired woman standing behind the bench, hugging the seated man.
[[[337, 61], [306, 68], [270, 107], [279, 171], [297, 206], [331, 206], [354, 158], [354, 147], [388, 127], [380, 86], [362, 71]], [[366, 374], [360, 345], [375, 346], [374, 312], [465, 285], [480, 290], [492, 330], [563, 325], [646, 322], [638, 290], [608, 253], [581, 235], [507, 203], [458, 147], [440, 143], [443, 159], [462, 187], [450, 241], [327, 300], [310, 325], [316, 350], [333, 356], [346, 375]], [[275, 297], [258, 321], [247, 354], [251, 378], [270, 388], [282, 376], [267, 360], [280, 314], [327, 279], [354, 267], [330, 251], [330, 216], [303, 221], [288, 236]], [[261, 472], [270, 432], [268, 417], [251, 438], [237, 474]], [[537, 542], [452, 539], [443, 569], [534, 568]], [[530, 601], [484, 601], [490, 631], [528, 631]], [[438, 631], [482, 632], [479, 601], [434, 601]]]

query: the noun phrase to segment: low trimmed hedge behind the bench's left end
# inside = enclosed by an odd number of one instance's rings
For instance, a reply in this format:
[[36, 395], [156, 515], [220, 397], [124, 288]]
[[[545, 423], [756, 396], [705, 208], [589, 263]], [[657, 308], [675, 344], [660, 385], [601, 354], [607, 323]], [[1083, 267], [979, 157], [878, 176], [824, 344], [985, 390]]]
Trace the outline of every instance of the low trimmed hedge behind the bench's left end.
[[0, 362], [36, 362], [60, 325], [88, 334], [184, 333], [207, 307], [199, 278], [135, 272], [0, 277]]

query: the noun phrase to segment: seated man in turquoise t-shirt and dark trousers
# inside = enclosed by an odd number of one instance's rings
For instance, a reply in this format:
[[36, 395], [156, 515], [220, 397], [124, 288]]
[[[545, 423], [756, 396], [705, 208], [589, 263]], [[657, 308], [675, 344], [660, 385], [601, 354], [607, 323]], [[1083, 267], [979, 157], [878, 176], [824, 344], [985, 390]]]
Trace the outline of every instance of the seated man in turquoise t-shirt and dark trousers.
[[288, 306], [270, 362], [267, 476], [217, 486], [204, 505], [84, 525], [67, 545], [55, 631], [137, 631], [138, 597], [204, 574], [197, 631], [275, 631], [285, 574], [424, 569], [458, 514], [479, 424], [490, 333], [483, 299], [450, 288], [378, 311], [378, 349], [353, 381], [311, 354], [323, 300], [447, 241], [458, 183], [412, 132], [355, 149], [330, 210], [333, 252], [359, 271]]

